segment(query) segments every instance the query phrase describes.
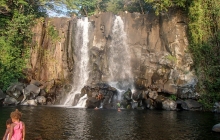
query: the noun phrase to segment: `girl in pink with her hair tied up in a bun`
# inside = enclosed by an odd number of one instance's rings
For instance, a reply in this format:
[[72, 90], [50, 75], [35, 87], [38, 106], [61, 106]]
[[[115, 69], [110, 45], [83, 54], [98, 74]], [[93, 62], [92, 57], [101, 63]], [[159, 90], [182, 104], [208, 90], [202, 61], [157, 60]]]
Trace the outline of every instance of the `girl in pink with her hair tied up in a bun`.
[[12, 124], [10, 127], [9, 140], [24, 140], [25, 139], [25, 124], [20, 121], [21, 112], [16, 109], [11, 112]]

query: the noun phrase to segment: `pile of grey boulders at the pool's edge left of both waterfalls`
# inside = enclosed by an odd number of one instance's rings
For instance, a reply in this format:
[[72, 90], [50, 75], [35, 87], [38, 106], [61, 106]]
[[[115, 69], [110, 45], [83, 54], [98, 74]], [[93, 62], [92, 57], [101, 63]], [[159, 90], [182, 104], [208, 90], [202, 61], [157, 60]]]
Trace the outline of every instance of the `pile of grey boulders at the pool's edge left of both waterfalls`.
[[6, 90], [6, 94], [0, 92], [0, 100], [3, 100], [4, 106], [54, 104], [55, 93], [45, 92], [40, 83], [37, 80], [32, 80], [30, 84], [13, 83]]

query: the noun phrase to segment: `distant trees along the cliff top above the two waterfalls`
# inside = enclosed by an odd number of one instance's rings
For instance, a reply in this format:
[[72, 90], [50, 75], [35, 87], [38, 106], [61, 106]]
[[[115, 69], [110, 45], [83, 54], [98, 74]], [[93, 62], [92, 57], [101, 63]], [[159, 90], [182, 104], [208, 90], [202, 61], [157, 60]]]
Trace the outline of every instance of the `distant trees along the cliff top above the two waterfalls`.
[[69, 15], [78, 16], [90, 16], [99, 12], [117, 14], [121, 11], [145, 13], [151, 8], [151, 5], [144, 0], [54, 0], [53, 2], [48, 0], [47, 2], [45, 6], [51, 10], [60, 12], [54, 5], [65, 5]]

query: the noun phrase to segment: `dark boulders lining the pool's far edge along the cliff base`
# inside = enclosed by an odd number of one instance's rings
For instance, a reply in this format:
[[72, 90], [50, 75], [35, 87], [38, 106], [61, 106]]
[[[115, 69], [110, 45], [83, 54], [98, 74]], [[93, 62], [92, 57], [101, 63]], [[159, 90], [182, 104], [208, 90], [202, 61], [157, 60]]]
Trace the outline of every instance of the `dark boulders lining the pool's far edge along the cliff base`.
[[[57, 97], [65, 94], [64, 92], [67, 91], [63, 87], [55, 92], [46, 92], [45, 86], [41, 82], [31, 80], [29, 84], [12, 84], [6, 93], [0, 91], [0, 101], [3, 106], [54, 105], [59, 104], [60, 99]], [[156, 86], [135, 90], [133, 93], [131, 89], [128, 89], [119, 95], [117, 89], [107, 83], [97, 83], [92, 86], [84, 86], [75, 99], [75, 103], [85, 94], [88, 97], [86, 108], [114, 109], [116, 104], [120, 103], [120, 107], [124, 109], [202, 110], [202, 105], [197, 101], [199, 96], [194, 99], [181, 99], [176, 95], [163, 92]]]

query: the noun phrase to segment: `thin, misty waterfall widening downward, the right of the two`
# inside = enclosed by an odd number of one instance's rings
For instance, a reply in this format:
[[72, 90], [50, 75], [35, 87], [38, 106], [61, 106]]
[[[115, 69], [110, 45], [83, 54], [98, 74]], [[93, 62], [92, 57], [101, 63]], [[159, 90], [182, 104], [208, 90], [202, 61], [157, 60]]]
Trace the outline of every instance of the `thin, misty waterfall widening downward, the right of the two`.
[[117, 88], [119, 93], [125, 92], [128, 88], [133, 88], [130, 54], [124, 22], [120, 16], [116, 16], [108, 55], [110, 74], [108, 82]]

